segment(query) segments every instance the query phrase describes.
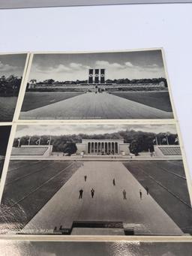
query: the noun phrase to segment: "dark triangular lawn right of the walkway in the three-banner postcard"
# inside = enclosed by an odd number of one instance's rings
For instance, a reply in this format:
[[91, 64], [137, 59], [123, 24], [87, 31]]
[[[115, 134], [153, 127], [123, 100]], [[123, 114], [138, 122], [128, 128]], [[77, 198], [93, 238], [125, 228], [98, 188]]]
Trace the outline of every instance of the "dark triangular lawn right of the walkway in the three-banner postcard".
[[172, 112], [169, 92], [111, 92], [111, 94], [149, 107], [155, 107], [159, 110]]

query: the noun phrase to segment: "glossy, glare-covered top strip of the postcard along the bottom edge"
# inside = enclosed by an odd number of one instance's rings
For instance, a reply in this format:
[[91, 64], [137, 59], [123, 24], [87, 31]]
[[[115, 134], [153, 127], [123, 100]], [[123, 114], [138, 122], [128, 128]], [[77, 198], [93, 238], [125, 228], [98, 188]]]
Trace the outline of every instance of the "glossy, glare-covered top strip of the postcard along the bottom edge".
[[1, 256], [191, 256], [192, 242], [0, 240]]

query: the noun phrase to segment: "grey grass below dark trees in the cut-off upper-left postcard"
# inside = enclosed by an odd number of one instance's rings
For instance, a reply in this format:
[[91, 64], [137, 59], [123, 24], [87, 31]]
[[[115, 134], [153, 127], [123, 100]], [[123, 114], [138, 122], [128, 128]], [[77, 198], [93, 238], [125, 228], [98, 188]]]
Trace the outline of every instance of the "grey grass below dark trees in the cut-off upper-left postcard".
[[0, 122], [11, 122], [17, 104], [17, 97], [0, 97]]

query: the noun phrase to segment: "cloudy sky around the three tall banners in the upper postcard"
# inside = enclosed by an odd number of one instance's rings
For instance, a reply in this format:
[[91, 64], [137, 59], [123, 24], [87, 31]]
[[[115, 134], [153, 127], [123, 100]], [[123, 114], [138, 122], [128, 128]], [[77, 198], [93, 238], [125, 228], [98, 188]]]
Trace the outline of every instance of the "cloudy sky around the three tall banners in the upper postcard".
[[124, 53], [34, 55], [29, 79], [87, 80], [89, 68], [105, 68], [106, 79], [165, 77], [160, 50]]

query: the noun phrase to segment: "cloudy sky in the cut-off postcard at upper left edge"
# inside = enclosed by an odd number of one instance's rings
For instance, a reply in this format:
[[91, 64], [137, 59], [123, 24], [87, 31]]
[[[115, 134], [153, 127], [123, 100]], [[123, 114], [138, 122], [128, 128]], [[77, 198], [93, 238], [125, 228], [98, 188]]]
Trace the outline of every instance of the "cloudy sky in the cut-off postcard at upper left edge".
[[0, 77], [8, 77], [11, 74], [22, 77], [26, 64], [26, 54], [0, 55]]

